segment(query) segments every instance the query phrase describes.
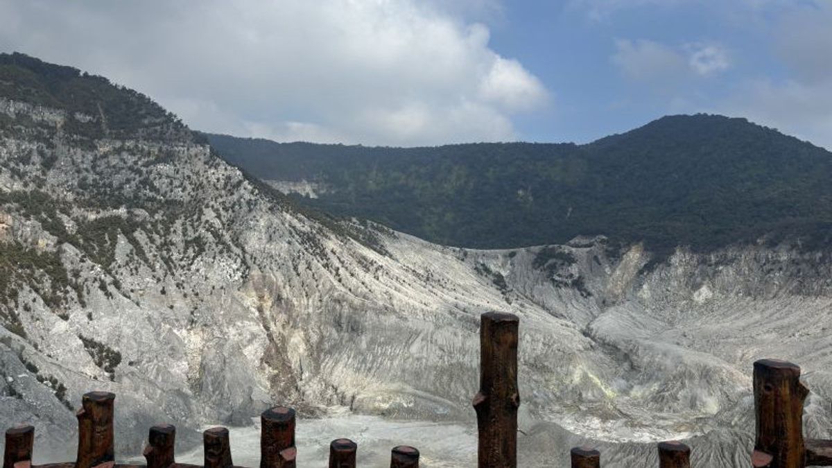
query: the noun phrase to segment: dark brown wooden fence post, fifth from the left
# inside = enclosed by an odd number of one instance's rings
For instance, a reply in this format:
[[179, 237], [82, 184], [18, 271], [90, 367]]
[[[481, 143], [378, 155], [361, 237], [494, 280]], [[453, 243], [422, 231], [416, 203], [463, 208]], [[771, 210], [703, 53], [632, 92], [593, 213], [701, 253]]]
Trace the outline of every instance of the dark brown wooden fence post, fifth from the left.
[[295, 468], [295, 410], [275, 406], [260, 415], [260, 468]]

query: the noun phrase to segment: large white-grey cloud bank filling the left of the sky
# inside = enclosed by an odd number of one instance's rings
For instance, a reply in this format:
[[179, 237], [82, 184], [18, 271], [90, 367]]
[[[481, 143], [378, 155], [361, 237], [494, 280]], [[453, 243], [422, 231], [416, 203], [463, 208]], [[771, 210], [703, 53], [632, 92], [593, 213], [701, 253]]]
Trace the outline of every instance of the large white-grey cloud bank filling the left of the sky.
[[0, 44], [110, 77], [191, 127], [280, 140], [511, 140], [547, 102], [462, 12], [493, 0], [0, 3]]

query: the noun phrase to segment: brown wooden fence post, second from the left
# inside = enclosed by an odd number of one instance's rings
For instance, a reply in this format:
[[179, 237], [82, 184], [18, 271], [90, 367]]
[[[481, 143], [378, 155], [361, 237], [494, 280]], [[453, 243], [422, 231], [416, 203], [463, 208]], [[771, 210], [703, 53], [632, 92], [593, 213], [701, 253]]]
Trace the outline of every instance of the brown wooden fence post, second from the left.
[[108, 391], [91, 391], [81, 399], [78, 417], [78, 457], [76, 468], [92, 468], [115, 461], [113, 453], [112, 411], [116, 396]]

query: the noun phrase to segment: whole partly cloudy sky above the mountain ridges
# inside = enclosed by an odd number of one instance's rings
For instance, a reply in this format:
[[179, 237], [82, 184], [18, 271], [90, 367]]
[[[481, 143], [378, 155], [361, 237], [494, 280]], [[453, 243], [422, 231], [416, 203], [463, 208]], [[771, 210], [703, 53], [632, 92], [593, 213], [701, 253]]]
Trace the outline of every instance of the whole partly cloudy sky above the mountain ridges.
[[832, 0], [0, 2], [0, 52], [278, 141], [587, 142], [671, 113], [832, 148]]

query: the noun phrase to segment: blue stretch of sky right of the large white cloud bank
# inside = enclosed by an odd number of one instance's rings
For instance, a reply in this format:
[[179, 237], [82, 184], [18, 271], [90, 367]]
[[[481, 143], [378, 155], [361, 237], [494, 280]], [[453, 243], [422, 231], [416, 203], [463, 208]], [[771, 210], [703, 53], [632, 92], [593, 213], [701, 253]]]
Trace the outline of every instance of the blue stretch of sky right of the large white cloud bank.
[[[832, 147], [830, 12], [829, 2], [587, 0], [505, 2], [483, 19], [494, 49], [553, 95], [516, 117], [523, 139], [586, 142], [665, 114], [721, 112]], [[805, 57], [786, 56], [800, 47]], [[820, 82], [805, 79], [814, 67], [825, 68]]]

